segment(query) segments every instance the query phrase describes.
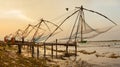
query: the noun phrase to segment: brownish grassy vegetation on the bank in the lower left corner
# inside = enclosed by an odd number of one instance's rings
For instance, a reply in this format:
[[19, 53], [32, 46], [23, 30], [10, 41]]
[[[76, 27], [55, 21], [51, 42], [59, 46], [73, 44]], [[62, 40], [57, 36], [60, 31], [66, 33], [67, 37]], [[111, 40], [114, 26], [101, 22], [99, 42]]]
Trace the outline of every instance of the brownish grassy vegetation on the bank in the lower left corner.
[[24, 57], [13, 50], [12, 47], [4, 50], [0, 46], [0, 67], [59, 67], [48, 64], [44, 58]]

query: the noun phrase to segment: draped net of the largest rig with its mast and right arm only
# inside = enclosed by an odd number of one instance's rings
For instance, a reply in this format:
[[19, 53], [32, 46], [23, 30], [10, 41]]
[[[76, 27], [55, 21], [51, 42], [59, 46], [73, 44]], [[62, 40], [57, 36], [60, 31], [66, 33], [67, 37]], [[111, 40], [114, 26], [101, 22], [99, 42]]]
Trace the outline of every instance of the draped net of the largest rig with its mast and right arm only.
[[[89, 10], [83, 7], [77, 7], [77, 8], [78, 8], [78, 12], [76, 13], [74, 12], [73, 14], [78, 14], [78, 16], [76, 17], [75, 24], [73, 25], [73, 30], [71, 31], [70, 36], [61, 38], [60, 40], [73, 41], [73, 39], [76, 39], [77, 41], [80, 41], [81, 39], [94, 38], [102, 33], [109, 31], [114, 27], [114, 25], [116, 25], [115, 22], [113, 22], [111, 19], [109, 19], [108, 17], [106, 17], [105, 15], [99, 12]], [[101, 26], [102, 28], [93, 28], [88, 23], [86, 23], [83, 10], [102, 16], [105, 19], [112, 22], [112, 24], [114, 25], [107, 26], [107, 27]], [[70, 15], [69, 17], [72, 17], [72, 15]], [[66, 19], [69, 19], [69, 17], [67, 17]]]

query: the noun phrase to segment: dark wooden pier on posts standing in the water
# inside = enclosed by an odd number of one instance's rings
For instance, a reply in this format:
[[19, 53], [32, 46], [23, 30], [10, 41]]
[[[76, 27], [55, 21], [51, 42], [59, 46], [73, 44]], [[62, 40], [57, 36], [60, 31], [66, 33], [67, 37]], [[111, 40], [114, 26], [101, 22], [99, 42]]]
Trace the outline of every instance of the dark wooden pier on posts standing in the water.
[[[36, 44], [34, 42], [26, 42], [26, 41], [15, 41], [14, 43], [6, 43], [6, 44], [9, 44], [9, 45], [17, 45], [18, 46], [18, 53], [21, 54], [22, 53], [22, 46], [28, 46], [31, 50], [31, 56], [34, 57], [34, 54], [35, 54], [35, 47], [37, 47], [37, 57], [39, 57], [39, 47], [40, 46], [43, 46], [44, 47], [44, 57], [46, 57], [46, 46], [51, 46], [51, 56], [53, 58], [53, 46], [56, 46], [55, 48], [55, 51], [56, 51], [56, 58], [57, 58], [57, 50], [58, 50], [58, 45], [61, 45], [61, 46], [65, 46], [66, 47], [66, 54], [68, 54], [68, 46], [73, 46], [75, 47], [75, 56], [77, 55], [77, 45], [76, 43], [58, 43], [57, 40], [55, 43], [51, 43], [51, 42], [41, 42], [39, 44]], [[69, 54], [68, 54], [69, 55]]]

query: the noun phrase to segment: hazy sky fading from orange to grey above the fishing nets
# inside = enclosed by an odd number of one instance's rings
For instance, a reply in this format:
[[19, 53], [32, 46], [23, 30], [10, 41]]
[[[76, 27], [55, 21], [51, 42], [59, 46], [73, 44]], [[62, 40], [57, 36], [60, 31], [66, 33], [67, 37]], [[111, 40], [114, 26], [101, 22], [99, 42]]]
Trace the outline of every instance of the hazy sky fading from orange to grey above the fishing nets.
[[[66, 7], [73, 10], [81, 5], [101, 12], [120, 24], [120, 0], [0, 0], [0, 39], [27, 24], [38, 23], [36, 21], [40, 18], [51, 20], [65, 14]], [[104, 34], [104, 38], [120, 39], [118, 29], [119, 26]], [[102, 39], [102, 35], [98, 38]]]

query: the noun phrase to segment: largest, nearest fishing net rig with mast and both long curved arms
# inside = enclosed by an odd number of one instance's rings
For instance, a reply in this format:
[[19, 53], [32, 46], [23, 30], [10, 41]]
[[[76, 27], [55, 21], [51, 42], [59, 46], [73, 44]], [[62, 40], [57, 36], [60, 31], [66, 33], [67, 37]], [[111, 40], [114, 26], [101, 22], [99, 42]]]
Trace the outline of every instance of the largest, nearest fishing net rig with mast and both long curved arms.
[[[92, 28], [88, 23], [86, 23], [85, 21], [85, 17], [84, 17], [84, 11], [88, 11], [88, 12], [92, 12], [92, 13], [96, 13], [102, 17], [104, 17], [105, 19], [109, 20], [110, 22], [112, 22], [114, 25], [117, 25], [114, 21], [112, 21], [111, 19], [109, 19], [107, 16], [99, 13], [99, 12], [96, 12], [96, 11], [93, 11], [93, 10], [89, 10], [89, 9], [86, 9], [86, 8], [83, 8], [83, 6], [81, 7], [75, 7], [77, 10], [75, 12], [73, 12], [72, 14], [70, 14], [69, 16], [67, 16], [62, 22], [61, 24], [48, 36], [48, 38], [46, 38], [45, 41], [47, 41], [53, 34], [55, 31], [57, 31], [57, 29], [59, 27], [61, 27], [65, 21], [67, 21], [70, 17], [72, 17], [73, 15], [77, 14], [77, 17], [76, 17], [76, 20], [75, 20], [75, 23], [73, 24], [73, 27], [72, 27], [72, 30], [71, 30], [71, 33], [69, 35], [69, 37], [67, 38], [63, 38], [63, 39], [68, 39], [68, 42], [71, 41], [71, 39], [75, 39], [75, 41], [77, 41], [76, 39], [81, 39], [81, 41], [83, 41], [83, 39], [88, 39], [88, 38], [93, 38], [95, 36], [98, 36], [100, 35], [101, 33], [105, 33], [107, 31], [109, 31], [110, 29], [113, 28], [113, 26], [109, 27], [109, 28], [105, 28], [105, 29], [94, 29]], [[75, 26], [76, 29], [75, 29]], [[76, 32], [73, 32], [74, 30], [76, 30]], [[85, 34], [89, 34], [89, 33], [92, 33], [94, 32], [95, 34], [89, 36], [89, 37], [86, 37], [84, 36]]]

